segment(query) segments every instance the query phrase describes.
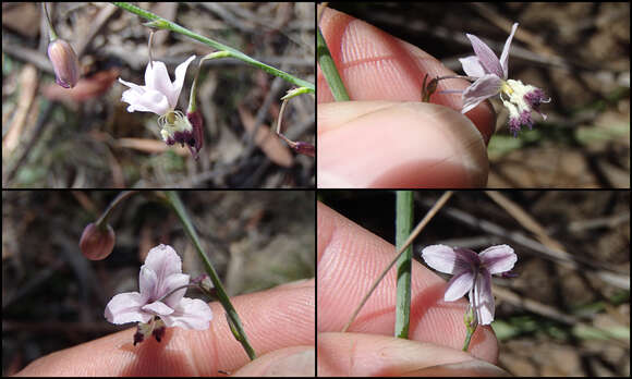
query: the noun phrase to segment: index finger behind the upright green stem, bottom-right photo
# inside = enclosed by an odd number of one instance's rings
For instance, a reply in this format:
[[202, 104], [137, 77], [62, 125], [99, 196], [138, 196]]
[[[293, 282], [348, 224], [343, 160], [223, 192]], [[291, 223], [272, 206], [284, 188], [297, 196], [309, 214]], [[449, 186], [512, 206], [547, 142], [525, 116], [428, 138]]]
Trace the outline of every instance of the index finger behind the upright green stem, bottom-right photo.
[[[394, 256], [394, 246], [323, 204], [317, 208], [318, 332], [341, 331], [362, 297]], [[413, 260], [411, 340], [461, 350], [466, 302], [443, 302], [446, 281]], [[396, 273], [391, 269], [357, 315], [349, 331], [392, 335]], [[498, 343], [489, 327], [472, 338], [473, 356], [496, 363]]]

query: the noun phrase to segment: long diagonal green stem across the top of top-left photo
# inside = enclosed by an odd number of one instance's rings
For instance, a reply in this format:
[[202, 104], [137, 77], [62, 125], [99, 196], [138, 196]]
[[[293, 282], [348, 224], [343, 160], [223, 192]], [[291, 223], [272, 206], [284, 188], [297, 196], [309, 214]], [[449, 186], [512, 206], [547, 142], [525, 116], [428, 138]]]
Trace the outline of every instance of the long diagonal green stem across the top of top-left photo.
[[306, 87], [313, 94], [316, 91], [316, 88], [315, 88], [314, 84], [312, 84], [309, 82], [306, 82], [306, 81], [303, 81], [301, 78], [297, 78], [297, 77], [295, 77], [293, 75], [288, 74], [287, 72], [283, 72], [281, 70], [275, 69], [271, 65], [262, 63], [262, 62], [257, 61], [256, 59], [253, 59], [253, 58], [246, 56], [245, 53], [243, 53], [243, 52], [241, 52], [241, 51], [239, 51], [236, 49], [231, 48], [230, 46], [226, 46], [226, 45], [220, 44], [220, 42], [218, 42], [216, 40], [212, 40], [210, 38], [200, 36], [197, 33], [193, 33], [193, 32], [189, 30], [185, 27], [182, 27], [182, 26], [180, 26], [180, 25], [178, 25], [175, 23], [172, 23], [172, 22], [170, 22], [168, 20], [165, 20], [165, 19], [160, 17], [157, 14], [154, 14], [151, 12], [147, 12], [147, 11], [145, 11], [145, 10], [143, 10], [143, 9], [136, 7], [136, 5], [132, 5], [132, 4], [127, 3], [127, 2], [113, 2], [113, 4], [117, 5], [117, 7], [120, 7], [120, 8], [124, 9], [124, 10], [126, 10], [129, 12], [132, 12], [132, 13], [134, 13], [134, 14], [143, 17], [143, 19], [146, 19], [146, 20], [151, 21], [151, 23], [148, 23], [147, 24], [147, 26], [149, 26], [149, 27], [154, 27], [154, 28], [158, 28], [158, 29], [171, 30], [171, 32], [174, 32], [174, 33], [180, 33], [180, 34], [185, 35], [185, 36], [187, 36], [190, 38], [193, 38], [195, 40], [198, 40], [198, 41], [200, 41], [200, 42], [203, 42], [205, 45], [208, 45], [208, 46], [210, 46], [210, 47], [212, 47], [215, 49], [218, 49], [218, 50], [221, 50], [221, 51], [227, 51], [227, 52], [229, 52], [229, 57], [239, 59], [239, 60], [241, 60], [241, 61], [243, 61], [245, 63], [248, 63], [248, 64], [254, 65], [254, 66], [256, 66], [256, 68], [258, 68], [260, 70], [264, 70], [265, 72], [267, 72], [269, 74], [272, 74], [275, 76], [279, 76], [279, 77], [281, 77], [281, 78], [283, 78], [283, 80], [285, 80], [285, 81], [288, 81], [288, 82], [290, 82], [290, 83], [292, 83], [292, 84], [294, 84], [296, 86]]

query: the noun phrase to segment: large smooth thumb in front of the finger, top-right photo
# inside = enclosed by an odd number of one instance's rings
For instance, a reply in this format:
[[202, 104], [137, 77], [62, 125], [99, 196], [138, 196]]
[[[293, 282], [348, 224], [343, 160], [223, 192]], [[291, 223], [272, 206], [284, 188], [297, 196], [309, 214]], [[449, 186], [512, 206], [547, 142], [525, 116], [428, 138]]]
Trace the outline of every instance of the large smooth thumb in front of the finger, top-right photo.
[[483, 187], [484, 138], [463, 114], [425, 102], [318, 105], [318, 187]]

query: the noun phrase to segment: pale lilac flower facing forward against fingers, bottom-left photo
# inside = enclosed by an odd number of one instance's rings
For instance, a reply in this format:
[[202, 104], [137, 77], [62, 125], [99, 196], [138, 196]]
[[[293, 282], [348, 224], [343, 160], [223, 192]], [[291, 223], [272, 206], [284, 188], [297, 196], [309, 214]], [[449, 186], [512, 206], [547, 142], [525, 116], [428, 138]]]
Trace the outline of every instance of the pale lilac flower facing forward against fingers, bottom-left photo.
[[184, 297], [186, 288], [182, 286], [189, 284], [189, 276], [182, 273], [182, 261], [171, 246], [158, 245], [149, 250], [145, 265], [141, 267], [138, 282], [139, 293], [121, 293], [108, 303], [105, 313], [108, 321], [141, 322], [138, 332], [145, 337], [153, 332], [158, 319], [161, 321], [158, 325], [167, 327], [208, 328], [212, 313], [205, 302]]

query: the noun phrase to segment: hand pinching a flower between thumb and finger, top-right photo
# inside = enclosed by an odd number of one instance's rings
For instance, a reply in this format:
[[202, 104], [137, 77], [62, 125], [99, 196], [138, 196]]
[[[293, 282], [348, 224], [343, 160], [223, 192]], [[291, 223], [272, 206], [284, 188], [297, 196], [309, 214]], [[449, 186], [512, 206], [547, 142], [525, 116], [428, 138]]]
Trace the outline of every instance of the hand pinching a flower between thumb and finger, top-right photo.
[[460, 94], [438, 94], [470, 83], [439, 81], [433, 103], [420, 102], [426, 73], [429, 78], [454, 73], [423, 50], [335, 10], [326, 9], [319, 25], [353, 101], [332, 102], [318, 68], [318, 187], [486, 185], [491, 106], [485, 101], [463, 115]]

